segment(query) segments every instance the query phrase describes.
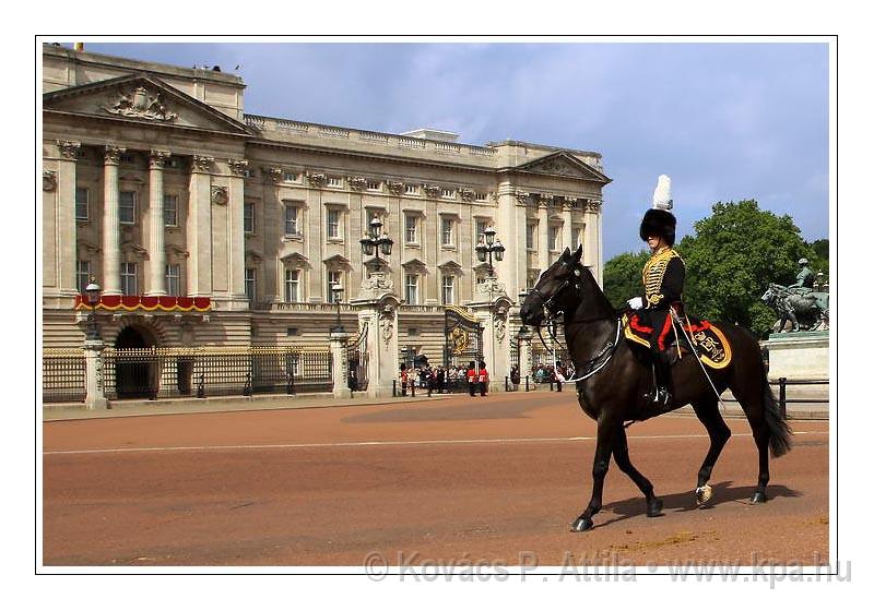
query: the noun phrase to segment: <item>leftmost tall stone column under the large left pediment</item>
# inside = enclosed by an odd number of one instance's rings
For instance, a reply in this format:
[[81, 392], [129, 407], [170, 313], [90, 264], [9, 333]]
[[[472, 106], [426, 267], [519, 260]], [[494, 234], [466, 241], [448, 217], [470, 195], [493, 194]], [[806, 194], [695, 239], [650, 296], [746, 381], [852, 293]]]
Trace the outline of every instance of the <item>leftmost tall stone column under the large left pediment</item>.
[[[59, 140], [57, 145], [58, 173], [49, 178], [48, 184], [57, 189], [57, 286], [61, 293], [72, 295], [79, 292], [75, 283], [75, 263], [79, 259], [75, 247], [75, 160], [81, 143]], [[43, 182], [43, 189], [46, 190], [45, 177]], [[49, 262], [44, 264], [49, 265]]]

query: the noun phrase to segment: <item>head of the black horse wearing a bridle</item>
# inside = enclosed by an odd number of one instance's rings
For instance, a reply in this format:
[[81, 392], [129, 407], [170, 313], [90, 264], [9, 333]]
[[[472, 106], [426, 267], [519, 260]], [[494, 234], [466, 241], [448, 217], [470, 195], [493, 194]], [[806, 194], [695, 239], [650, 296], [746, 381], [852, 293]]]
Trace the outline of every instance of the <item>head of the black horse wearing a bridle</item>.
[[565, 311], [570, 290], [579, 289], [582, 283], [582, 244], [576, 252], [566, 248], [558, 261], [543, 272], [538, 284], [528, 293], [522, 302], [519, 315], [522, 324], [540, 326], [544, 320], [553, 319]]

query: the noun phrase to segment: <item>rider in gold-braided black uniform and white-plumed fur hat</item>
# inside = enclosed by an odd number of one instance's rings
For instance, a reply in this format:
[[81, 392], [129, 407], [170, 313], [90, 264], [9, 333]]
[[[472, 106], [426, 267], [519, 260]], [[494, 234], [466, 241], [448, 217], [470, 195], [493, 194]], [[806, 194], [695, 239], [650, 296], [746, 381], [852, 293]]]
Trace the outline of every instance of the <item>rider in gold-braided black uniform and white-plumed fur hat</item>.
[[683, 315], [683, 286], [686, 266], [674, 249], [676, 218], [670, 212], [671, 179], [661, 175], [652, 194], [652, 207], [640, 223], [640, 239], [652, 252], [643, 266], [643, 297], [628, 300], [628, 307], [638, 311], [638, 320], [652, 330], [650, 354], [654, 373], [654, 388], [647, 398], [659, 408], [666, 408], [674, 395], [671, 378], [671, 340], [677, 340], [671, 310]]

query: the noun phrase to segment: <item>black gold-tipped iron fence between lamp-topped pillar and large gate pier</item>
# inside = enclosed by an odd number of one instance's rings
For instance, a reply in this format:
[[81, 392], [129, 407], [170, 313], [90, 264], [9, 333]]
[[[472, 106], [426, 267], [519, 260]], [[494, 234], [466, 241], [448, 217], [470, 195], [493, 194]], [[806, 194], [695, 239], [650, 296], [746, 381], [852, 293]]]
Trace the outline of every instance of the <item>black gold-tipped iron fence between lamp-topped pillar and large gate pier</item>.
[[327, 348], [143, 348], [106, 350], [108, 399], [328, 392]]

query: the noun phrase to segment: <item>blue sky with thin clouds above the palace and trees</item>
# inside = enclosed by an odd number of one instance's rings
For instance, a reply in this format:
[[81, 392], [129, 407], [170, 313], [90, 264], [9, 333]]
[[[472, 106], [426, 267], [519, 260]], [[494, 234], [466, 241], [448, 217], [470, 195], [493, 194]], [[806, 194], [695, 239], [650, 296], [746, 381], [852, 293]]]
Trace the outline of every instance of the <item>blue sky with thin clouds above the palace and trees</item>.
[[807, 240], [828, 227], [828, 47], [816, 43], [86, 44], [244, 77], [246, 111], [386, 132], [432, 127], [603, 154], [604, 256], [643, 248], [673, 181], [677, 241], [755, 199]]

